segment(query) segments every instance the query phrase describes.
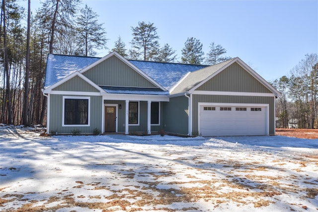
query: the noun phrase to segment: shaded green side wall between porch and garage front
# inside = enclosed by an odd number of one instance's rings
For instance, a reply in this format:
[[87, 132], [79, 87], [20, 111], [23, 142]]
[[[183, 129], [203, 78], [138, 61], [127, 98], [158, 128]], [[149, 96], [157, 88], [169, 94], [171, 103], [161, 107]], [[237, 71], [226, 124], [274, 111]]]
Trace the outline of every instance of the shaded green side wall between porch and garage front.
[[166, 132], [187, 135], [188, 134], [188, 98], [178, 96], [170, 98], [163, 103], [163, 127]]

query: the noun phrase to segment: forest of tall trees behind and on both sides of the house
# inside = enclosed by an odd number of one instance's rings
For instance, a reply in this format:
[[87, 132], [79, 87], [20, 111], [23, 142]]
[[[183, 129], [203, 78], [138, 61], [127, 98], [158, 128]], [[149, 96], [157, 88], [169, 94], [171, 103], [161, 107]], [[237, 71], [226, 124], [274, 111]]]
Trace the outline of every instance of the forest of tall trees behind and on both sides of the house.
[[[47, 99], [42, 94], [48, 54], [95, 56], [100, 49], [117, 51], [130, 60], [214, 65], [231, 57], [211, 42], [204, 54], [200, 40], [189, 37], [176, 61], [176, 50], [160, 44], [155, 23], [131, 26], [130, 49], [118, 40], [109, 47], [98, 14], [80, 0], [43, 0], [35, 13], [21, 0], [2, 0], [0, 18], [0, 123], [46, 126]], [[25, 21], [27, 20], [27, 21]], [[27, 22], [27, 23], [25, 23]], [[111, 29], [108, 29], [111, 30]], [[282, 94], [276, 99], [277, 127], [296, 120], [299, 128], [318, 128], [318, 56], [309, 53], [288, 76], [270, 83]], [[298, 64], [297, 64], [298, 63]]]

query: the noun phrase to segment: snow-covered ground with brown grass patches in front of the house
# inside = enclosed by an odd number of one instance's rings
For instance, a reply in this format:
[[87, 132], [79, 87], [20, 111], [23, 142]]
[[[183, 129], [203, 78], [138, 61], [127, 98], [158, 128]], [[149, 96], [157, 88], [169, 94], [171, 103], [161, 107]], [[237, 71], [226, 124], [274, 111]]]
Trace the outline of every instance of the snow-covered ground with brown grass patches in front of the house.
[[0, 127], [0, 211], [318, 211], [318, 140]]

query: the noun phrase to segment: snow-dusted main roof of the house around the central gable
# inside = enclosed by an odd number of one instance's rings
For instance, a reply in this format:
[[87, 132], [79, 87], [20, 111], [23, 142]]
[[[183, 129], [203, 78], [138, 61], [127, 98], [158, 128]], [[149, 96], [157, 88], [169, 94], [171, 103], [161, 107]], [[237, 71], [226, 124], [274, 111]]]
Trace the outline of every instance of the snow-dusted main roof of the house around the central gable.
[[49, 54], [44, 88], [52, 86], [76, 71], [83, 73], [112, 56], [118, 57], [163, 90], [170, 90], [189, 72], [208, 67], [207, 65], [126, 60], [117, 52], [112, 52], [103, 58]]

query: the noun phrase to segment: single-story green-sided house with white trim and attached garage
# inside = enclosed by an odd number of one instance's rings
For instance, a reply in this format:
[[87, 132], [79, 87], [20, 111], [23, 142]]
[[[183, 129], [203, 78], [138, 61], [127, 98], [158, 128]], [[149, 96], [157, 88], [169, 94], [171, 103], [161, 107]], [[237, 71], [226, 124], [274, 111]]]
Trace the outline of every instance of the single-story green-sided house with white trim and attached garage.
[[239, 58], [214, 65], [48, 55], [48, 134], [275, 134], [280, 93]]

